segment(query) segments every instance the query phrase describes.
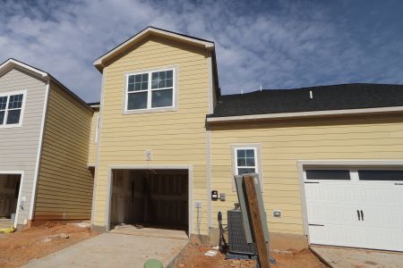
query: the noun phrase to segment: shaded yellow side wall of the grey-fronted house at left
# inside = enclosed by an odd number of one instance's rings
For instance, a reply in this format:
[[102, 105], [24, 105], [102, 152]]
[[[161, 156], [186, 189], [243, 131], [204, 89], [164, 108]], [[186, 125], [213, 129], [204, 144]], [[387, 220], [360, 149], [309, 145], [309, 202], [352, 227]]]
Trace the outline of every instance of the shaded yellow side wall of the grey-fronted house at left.
[[50, 84], [34, 220], [89, 220], [92, 111]]

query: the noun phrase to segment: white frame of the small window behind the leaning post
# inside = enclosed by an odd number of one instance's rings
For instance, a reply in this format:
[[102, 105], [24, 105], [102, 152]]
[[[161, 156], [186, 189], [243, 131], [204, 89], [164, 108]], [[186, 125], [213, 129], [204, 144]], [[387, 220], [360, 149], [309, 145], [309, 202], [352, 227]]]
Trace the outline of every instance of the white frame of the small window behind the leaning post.
[[259, 180], [261, 183], [261, 189], [263, 192], [264, 184], [263, 184], [263, 172], [262, 172], [262, 147], [261, 144], [232, 144], [231, 147], [231, 159], [232, 159], [232, 190], [236, 191], [236, 183], [234, 180], [234, 175], [238, 175], [238, 168], [243, 168], [243, 166], [238, 166], [237, 161], [237, 151], [238, 150], [253, 150], [254, 153], [254, 166], [244, 167], [244, 168], [254, 168], [255, 172], [259, 174]]

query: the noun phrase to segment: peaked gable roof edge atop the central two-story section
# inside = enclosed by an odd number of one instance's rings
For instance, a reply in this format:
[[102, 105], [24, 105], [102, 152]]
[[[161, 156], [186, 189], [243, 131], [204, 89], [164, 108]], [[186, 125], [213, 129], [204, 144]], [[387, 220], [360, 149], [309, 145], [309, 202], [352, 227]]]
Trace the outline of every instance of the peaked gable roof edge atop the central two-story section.
[[140, 42], [144, 38], [150, 37], [150, 36], [159, 36], [159, 37], [165, 37], [165, 38], [171, 38], [177, 41], [184, 42], [189, 45], [193, 46], [200, 46], [203, 48], [206, 48], [208, 50], [214, 50], [214, 42], [206, 39], [201, 39], [201, 38], [195, 38], [192, 36], [187, 36], [181, 33], [177, 33], [174, 31], [170, 31], [167, 29], [159, 29], [155, 27], [147, 27], [146, 29], [142, 29], [140, 32], [135, 34], [132, 38], [128, 38], [125, 40], [122, 44], [116, 46], [115, 48], [112, 48], [109, 50], [106, 54], [101, 55], [97, 60], [94, 62], [94, 66], [102, 72], [105, 63], [113, 60], [120, 54], [122, 54], [125, 49], [128, 47], [133, 46], [134, 44]]

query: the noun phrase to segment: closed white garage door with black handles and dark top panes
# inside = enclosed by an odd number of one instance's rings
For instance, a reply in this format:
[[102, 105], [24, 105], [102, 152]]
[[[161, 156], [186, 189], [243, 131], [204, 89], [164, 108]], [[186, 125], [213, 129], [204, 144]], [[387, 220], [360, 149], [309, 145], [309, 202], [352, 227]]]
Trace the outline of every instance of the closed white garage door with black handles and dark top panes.
[[305, 168], [311, 244], [403, 251], [403, 169]]

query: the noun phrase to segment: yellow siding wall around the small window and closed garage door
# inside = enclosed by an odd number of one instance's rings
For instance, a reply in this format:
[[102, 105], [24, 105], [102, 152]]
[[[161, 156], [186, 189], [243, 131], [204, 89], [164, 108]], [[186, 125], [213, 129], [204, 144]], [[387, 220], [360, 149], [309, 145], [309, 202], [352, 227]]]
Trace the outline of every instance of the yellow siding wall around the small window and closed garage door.
[[[227, 193], [212, 202], [212, 218], [237, 202], [232, 190], [231, 144], [261, 144], [263, 200], [270, 231], [302, 234], [298, 160], [401, 159], [403, 116], [360, 116], [298, 121], [252, 121], [211, 127], [213, 189]], [[272, 217], [274, 209], [281, 218]], [[217, 227], [217, 222], [213, 221]]]

